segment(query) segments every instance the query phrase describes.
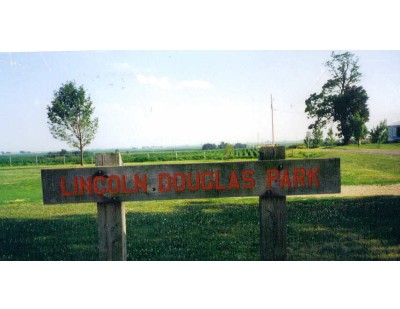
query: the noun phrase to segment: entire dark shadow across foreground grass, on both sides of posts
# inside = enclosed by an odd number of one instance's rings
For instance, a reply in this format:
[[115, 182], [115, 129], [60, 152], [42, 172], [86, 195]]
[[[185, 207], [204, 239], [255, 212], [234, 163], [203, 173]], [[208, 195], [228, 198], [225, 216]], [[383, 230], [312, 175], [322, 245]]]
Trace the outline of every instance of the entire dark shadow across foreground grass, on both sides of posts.
[[[225, 203], [225, 201], [224, 201]], [[128, 260], [260, 259], [258, 199], [127, 206]], [[288, 260], [400, 260], [400, 197], [287, 203]], [[0, 219], [0, 260], [98, 259], [95, 215]]]

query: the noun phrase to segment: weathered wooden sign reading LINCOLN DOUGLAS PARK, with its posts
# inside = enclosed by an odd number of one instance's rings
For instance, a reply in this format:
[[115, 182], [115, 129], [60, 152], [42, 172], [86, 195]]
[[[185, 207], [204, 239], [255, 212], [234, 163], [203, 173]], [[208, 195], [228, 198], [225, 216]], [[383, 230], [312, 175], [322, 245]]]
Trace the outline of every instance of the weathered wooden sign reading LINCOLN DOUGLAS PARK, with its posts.
[[[97, 155], [94, 168], [42, 170], [43, 201], [97, 202], [98, 209], [103, 205], [109, 211], [124, 201], [259, 196], [262, 259], [282, 260], [286, 258], [286, 232], [282, 238], [280, 232], [268, 232], [268, 225], [286, 230], [285, 197], [340, 192], [339, 159], [284, 160], [284, 153], [284, 147], [267, 147], [259, 161], [141, 166], [120, 166], [119, 154], [111, 164], [104, 162], [109, 155]], [[268, 205], [277, 210], [271, 212]], [[119, 225], [125, 228], [125, 218]], [[99, 234], [101, 229], [99, 225]], [[268, 237], [272, 239], [263, 239]], [[263, 243], [271, 241], [283, 244], [272, 251], [268, 244], [264, 248]], [[113, 258], [109, 255], [107, 259]]]

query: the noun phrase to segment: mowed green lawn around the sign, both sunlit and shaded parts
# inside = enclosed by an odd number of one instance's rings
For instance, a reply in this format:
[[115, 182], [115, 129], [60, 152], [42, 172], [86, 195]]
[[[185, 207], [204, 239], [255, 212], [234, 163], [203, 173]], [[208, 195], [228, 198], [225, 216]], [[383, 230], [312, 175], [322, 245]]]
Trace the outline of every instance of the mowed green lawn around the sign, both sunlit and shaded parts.
[[[400, 157], [336, 149], [310, 157], [340, 157], [344, 185], [400, 183]], [[43, 205], [41, 168], [0, 168], [0, 260], [97, 260], [96, 205]], [[397, 196], [288, 197], [288, 259], [400, 260], [399, 207]], [[258, 198], [129, 202], [126, 209], [128, 260], [260, 259]]]

